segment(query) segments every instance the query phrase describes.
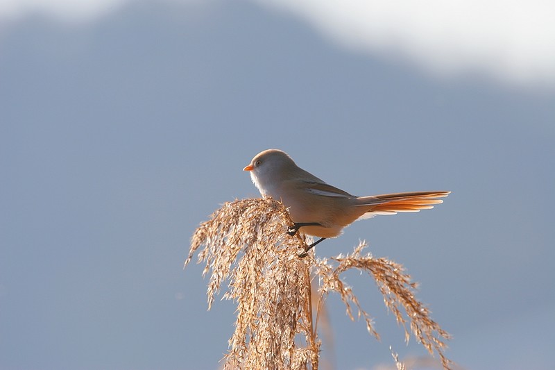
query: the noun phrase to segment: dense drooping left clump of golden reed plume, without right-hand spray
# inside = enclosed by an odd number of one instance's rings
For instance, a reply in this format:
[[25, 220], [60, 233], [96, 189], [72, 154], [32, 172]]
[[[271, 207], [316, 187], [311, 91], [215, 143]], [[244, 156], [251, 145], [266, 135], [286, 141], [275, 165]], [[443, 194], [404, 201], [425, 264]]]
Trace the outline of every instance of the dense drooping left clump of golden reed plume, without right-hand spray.
[[211, 271], [209, 305], [224, 281], [225, 298], [237, 303], [225, 368], [318, 366], [319, 342], [307, 308], [314, 258], [298, 258], [306, 244], [300, 235], [286, 233], [292, 225], [282, 203], [246, 199], [225, 203], [194, 233], [185, 264], [205, 246], [198, 257], [206, 262], [205, 274]]

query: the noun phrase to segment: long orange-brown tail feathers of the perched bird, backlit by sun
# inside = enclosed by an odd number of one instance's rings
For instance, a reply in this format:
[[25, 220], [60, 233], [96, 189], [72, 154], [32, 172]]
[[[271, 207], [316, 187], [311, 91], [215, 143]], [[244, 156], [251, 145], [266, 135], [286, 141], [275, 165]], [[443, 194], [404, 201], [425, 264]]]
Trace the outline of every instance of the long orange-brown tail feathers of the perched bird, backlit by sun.
[[441, 199], [450, 192], [409, 192], [374, 196], [360, 196], [357, 206], [367, 207], [364, 218], [373, 215], [395, 215], [397, 212], [418, 212], [434, 208], [434, 204], [443, 203]]

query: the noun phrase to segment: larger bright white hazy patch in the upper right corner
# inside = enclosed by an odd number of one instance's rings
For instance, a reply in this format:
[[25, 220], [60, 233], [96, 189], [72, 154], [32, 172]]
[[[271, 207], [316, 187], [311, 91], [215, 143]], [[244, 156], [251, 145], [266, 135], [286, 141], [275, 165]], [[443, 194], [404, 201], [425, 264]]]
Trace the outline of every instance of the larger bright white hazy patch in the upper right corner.
[[552, 0], [257, 0], [348, 47], [395, 53], [439, 74], [555, 84]]

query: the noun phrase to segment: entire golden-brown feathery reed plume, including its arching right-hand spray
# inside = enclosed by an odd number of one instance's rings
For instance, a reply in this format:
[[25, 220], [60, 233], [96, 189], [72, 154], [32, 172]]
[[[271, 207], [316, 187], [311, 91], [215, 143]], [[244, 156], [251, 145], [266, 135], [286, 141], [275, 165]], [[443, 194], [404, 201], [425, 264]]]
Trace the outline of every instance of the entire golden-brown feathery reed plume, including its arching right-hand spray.
[[198, 263], [205, 262], [203, 276], [210, 272], [209, 309], [224, 284], [223, 296], [237, 303], [224, 369], [318, 369], [318, 319], [330, 292], [341, 296], [350, 319], [364, 318], [368, 332], [379, 338], [371, 317], [340, 278], [349, 269], [365, 271], [375, 280], [387, 308], [404, 328], [405, 340], [412, 333], [429, 353], [439, 355], [444, 369], [450, 369], [443, 353], [450, 336], [416, 300], [416, 283], [401, 264], [363, 255], [364, 242], [345, 256], [316, 258], [310, 251], [300, 258], [307, 240], [299, 233], [288, 235], [291, 226], [282, 203], [244, 199], [225, 203], [191, 239], [185, 266], [204, 246]]

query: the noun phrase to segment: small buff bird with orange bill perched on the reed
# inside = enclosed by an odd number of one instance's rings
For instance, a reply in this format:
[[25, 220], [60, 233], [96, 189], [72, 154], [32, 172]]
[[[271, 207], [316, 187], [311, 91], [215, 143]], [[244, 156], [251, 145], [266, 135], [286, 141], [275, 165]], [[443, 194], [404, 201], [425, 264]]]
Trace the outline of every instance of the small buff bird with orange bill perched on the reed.
[[343, 228], [359, 219], [397, 212], [418, 212], [443, 203], [449, 191], [402, 192], [372, 196], [355, 196], [325, 183], [298, 167], [287, 153], [267, 149], [255, 155], [244, 167], [262, 196], [281, 201], [291, 216], [293, 226], [287, 233], [319, 237], [309, 249], [324, 239], [337, 237]]

